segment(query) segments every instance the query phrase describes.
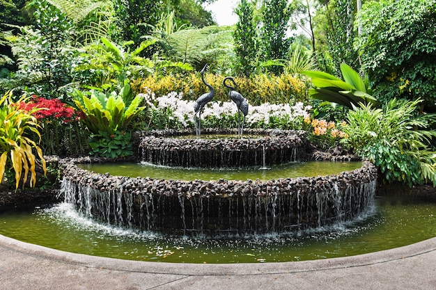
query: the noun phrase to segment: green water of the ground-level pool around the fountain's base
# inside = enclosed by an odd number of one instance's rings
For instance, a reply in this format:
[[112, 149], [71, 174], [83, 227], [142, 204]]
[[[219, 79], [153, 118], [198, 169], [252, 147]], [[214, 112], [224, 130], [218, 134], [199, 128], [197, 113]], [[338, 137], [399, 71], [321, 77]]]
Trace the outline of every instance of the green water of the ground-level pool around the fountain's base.
[[84, 218], [70, 204], [0, 213], [0, 234], [87, 255], [186, 263], [325, 259], [397, 248], [436, 236], [436, 197], [383, 197], [357, 220], [259, 236], [196, 238], [121, 229]]

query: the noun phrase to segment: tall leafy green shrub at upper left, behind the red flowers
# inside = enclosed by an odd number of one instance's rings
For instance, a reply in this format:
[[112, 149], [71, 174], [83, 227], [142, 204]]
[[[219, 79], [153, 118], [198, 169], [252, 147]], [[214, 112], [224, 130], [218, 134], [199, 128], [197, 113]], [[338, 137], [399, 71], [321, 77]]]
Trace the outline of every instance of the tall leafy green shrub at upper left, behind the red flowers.
[[46, 1], [34, 0], [28, 6], [38, 8], [33, 13], [34, 28], [23, 26], [19, 35], [6, 37], [18, 66], [10, 88], [18, 85], [49, 99], [65, 99], [76, 52], [71, 46], [73, 24]]

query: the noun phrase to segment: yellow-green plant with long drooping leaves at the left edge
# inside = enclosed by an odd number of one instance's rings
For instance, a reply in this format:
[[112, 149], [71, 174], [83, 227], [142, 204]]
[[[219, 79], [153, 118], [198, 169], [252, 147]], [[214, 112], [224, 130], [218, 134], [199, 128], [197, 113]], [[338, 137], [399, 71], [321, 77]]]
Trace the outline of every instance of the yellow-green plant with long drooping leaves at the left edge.
[[[21, 181], [24, 187], [28, 180], [29, 186], [36, 184], [36, 167], [40, 166], [46, 172], [45, 159], [42, 150], [35, 141], [27, 137], [27, 134], [34, 133], [40, 136], [38, 123], [32, 112], [38, 110], [33, 108], [26, 112], [20, 108], [21, 97], [18, 102], [13, 102], [13, 93], [6, 92], [0, 99], [0, 180], [9, 166], [15, 171], [15, 188], [18, 188]], [[36, 151], [36, 156], [33, 152]], [[39, 162], [38, 162], [39, 159]], [[23, 172], [24, 171], [24, 172]], [[24, 175], [23, 175], [24, 173]]]

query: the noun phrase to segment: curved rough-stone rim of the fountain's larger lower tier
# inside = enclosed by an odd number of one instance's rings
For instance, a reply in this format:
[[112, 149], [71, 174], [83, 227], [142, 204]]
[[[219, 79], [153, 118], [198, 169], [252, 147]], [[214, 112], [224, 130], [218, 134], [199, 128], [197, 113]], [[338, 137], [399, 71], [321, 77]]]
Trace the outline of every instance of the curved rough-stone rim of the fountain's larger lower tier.
[[363, 161], [362, 167], [356, 170], [341, 172], [339, 175], [327, 175], [325, 177], [296, 177], [279, 178], [267, 181], [256, 180], [226, 180], [219, 179], [215, 182], [196, 179], [194, 181], [182, 181], [171, 179], [157, 179], [150, 177], [122, 177], [107, 174], [89, 172], [80, 168], [77, 164], [102, 162], [105, 159], [80, 158], [63, 159], [63, 177], [68, 181], [88, 186], [96, 191], [108, 192], [116, 191], [120, 186], [124, 193], [157, 194], [165, 196], [184, 196], [191, 198], [194, 195], [233, 197], [251, 196], [270, 196], [277, 194], [290, 194], [290, 192], [318, 192], [333, 188], [334, 184], [340, 190], [345, 190], [350, 186], [368, 184], [377, 179], [377, 168], [369, 161]]

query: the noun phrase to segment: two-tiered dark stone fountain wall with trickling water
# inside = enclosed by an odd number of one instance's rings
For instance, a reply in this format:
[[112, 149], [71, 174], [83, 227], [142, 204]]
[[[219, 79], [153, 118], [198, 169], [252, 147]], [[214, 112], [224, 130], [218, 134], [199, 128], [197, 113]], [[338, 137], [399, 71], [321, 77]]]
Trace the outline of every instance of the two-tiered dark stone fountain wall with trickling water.
[[[311, 159], [302, 131], [137, 132], [137, 161], [164, 166], [265, 167]], [[209, 134], [216, 138], [207, 138]], [[377, 170], [369, 162], [340, 175], [276, 180], [171, 180], [101, 175], [63, 163], [65, 201], [104, 222], [171, 234], [287, 232], [353, 218], [375, 195]]]

